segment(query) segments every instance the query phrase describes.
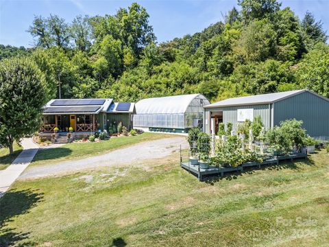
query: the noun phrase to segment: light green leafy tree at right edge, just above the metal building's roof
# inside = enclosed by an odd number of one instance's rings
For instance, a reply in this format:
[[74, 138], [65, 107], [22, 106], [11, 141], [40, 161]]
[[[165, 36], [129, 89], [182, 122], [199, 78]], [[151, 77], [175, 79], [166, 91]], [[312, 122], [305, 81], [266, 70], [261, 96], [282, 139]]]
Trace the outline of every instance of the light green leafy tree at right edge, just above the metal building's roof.
[[297, 78], [302, 87], [329, 97], [329, 46], [315, 45], [297, 64]]

